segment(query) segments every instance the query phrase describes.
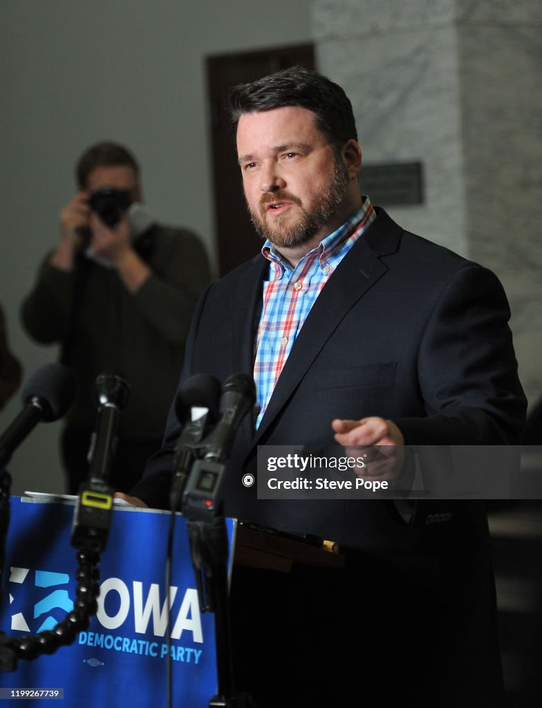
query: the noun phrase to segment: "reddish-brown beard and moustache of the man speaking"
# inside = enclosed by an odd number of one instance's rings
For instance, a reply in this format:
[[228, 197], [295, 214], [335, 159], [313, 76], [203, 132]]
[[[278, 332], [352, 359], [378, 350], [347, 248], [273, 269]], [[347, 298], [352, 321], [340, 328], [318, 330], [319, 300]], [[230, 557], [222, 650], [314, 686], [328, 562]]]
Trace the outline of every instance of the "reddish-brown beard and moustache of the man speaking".
[[[328, 185], [319, 193], [313, 195], [307, 208], [301, 200], [287, 191], [277, 191], [263, 195], [258, 205], [258, 211], [250, 210], [250, 218], [256, 231], [263, 239], [268, 239], [277, 247], [292, 248], [310, 241], [322, 227], [325, 227], [337, 214], [345, 198], [348, 188], [348, 173], [339, 156], [335, 156], [333, 173]], [[289, 214], [279, 216], [267, 222], [267, 204], [280, 200], [292, 202], [301, 210], [301, 215], [295, 222], [288, 225]]]

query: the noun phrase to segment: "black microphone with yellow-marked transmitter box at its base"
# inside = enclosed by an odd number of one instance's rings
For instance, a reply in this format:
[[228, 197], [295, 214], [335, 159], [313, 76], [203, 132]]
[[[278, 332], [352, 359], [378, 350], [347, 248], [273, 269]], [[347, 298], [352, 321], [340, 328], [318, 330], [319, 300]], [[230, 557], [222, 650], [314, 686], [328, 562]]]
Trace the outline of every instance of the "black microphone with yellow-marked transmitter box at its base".
[[105, 373], [96, 378], [94, 400], [98, 406], [96, 430], [88, 450], [88, 481], [79, 487], [79, 497], [71, 524], [71, 545], [81, 552], [100, 553], [107, 544], [113, 494], [109, 484], [120, 413], [132, 390], [118, 374]]

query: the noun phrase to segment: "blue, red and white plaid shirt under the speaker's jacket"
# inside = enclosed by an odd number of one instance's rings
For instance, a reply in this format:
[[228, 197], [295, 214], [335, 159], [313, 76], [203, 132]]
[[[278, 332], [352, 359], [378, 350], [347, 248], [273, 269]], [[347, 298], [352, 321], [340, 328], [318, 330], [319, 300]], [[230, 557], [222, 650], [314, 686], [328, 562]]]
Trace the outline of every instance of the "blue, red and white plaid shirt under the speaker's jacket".
[[259, 406], [256, 428], [269, 404], [284, 362], [296, 336], [328, 278], [354, 243], [376, 218], [368, 197], [357, 212], [333, 234], [326, 236], [301, 261], [292, 264], [265, 241], [262, 253], [269, 263], [269, 280], [263, 284], [263, 307], [258, 327], [254, 381]]

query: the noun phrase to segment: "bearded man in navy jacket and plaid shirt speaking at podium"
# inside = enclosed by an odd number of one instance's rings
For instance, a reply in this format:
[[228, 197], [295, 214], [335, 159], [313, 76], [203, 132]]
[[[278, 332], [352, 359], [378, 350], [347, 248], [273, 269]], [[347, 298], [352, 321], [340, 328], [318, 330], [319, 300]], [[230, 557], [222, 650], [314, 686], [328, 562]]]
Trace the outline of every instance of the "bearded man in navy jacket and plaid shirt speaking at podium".
[[[258, 474], [258, 445], [519, 443], [526, 401], [500, 282], [360, 193], [340, 86], [286, 69], [233, 89], [231, 110], [265, 243], [200, 299], [181, 380], [255, 380], [258, 409], [227, 461], [224, 515], [333, 539], [346, 556], [340, 572], [236, 570], [236, 685], [265, 708], [501, 706], [483, 503], [266, 501], [241, 483]], [[132, 503], [168, 506], [182, 423], [172, 406]]]

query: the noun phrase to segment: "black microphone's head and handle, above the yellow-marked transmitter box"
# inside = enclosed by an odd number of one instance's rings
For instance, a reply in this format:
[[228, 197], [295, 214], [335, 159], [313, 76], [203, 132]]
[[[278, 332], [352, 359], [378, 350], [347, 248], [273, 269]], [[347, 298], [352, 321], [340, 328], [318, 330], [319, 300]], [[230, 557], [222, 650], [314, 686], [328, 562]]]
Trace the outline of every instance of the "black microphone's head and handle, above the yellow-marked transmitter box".
[[129, 383], [118, 374], [104, 373], [96, 378], [96, 429], [88, 450], [88, 479], [108, 481], [115, 455], [120, 413], [127, 406], [131, 393]]

